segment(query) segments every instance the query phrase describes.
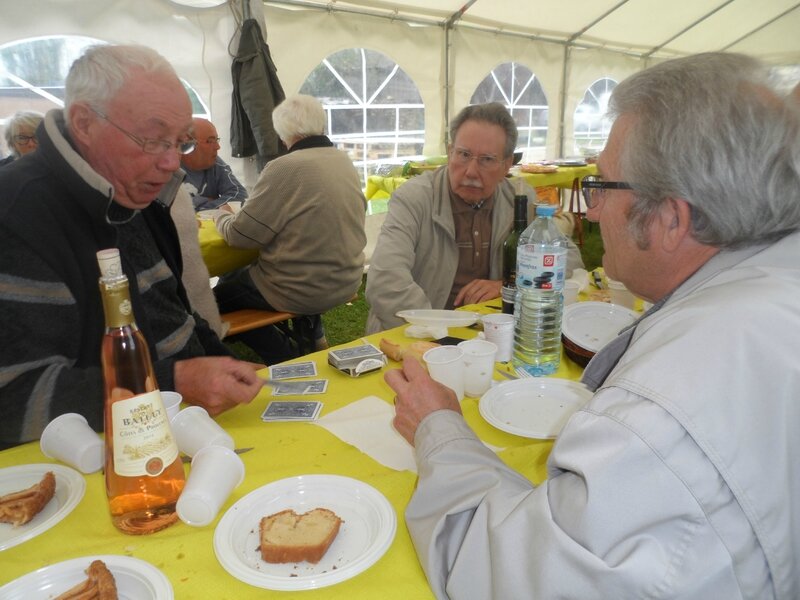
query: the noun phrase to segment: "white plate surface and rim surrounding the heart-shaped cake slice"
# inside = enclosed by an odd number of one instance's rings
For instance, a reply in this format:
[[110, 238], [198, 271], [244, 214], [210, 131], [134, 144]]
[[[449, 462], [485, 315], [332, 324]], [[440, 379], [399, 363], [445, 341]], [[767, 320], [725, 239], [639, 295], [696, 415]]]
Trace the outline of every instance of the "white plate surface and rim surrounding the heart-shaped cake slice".
[[[281, 510], [327, 508], [344, 522], [319, 563], [270, 564], [261, 560], [259, 522]], [[394, 540], [397, 517], [375, 488], [339, 475], [282, 479], [231, 506], [214, 532], [217, 560], [231, 575], [270, 590], [310, 590], [340, 583], [383, 556]]]

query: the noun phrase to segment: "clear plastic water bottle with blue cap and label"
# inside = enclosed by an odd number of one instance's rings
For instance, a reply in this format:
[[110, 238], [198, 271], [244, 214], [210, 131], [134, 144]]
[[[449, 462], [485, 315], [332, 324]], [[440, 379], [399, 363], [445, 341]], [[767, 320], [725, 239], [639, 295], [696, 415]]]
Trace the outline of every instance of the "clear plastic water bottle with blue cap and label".
[[561, 362], [561, 314], [567, 266], [567, 238], [553, 222], [554, 205], [536, 207], [536, 219], [517, 248], [514, 354], [518, 371], [550, 375]]

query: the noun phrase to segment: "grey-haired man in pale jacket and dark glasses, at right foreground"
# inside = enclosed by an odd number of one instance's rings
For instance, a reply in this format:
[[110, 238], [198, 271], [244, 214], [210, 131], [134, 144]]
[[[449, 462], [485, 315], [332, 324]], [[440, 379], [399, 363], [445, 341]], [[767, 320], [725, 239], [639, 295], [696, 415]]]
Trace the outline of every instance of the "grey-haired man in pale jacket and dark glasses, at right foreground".
[[583, 190], [654, 306], [587, 366], [540, 485], [418, 363], [386, 374], [438, 597], [800, 598], [800, 111], [767, 74], [712, 53], [614, 90]]

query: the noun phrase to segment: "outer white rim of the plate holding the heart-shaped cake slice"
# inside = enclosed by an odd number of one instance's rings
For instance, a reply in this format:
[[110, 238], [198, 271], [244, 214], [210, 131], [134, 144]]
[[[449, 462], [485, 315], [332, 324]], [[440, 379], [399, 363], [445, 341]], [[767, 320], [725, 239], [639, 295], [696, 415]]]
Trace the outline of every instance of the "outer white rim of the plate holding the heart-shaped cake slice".
[[[255, 571], [237, 556], [236, 549], [233, 548], [230, 540], [233, 530], [249, 519], [249, 513], [255, 511], [255, 506], [261, 507], [265, 504], [263, 502], [265, 497], [275, 496], [276, 498], [281, 498], [285, 496], [284, 492], [286, 490], [293, 490], [299, 486], [304, 486], [304, 490], [307, 491], [308, 489], [313, 489], [314, 486], [326, 485], [340, 487], [348, 495], [353, 495], [357, 491], [369, 502], [370, 507], [381, 518], [382, 527], [378, 535], [372, 539], [370, 547], [361, 556], [356, 557], [344, 566], [337, 567], [335, 570], [321, 574], [294, 577], [278, 577]], [[292, 506], [293, 503], [288, 499], [284, 501], [276, 500], [274, 507], [264, 510], [259, 508], [258, 511], [259, 515], [265, 516]], [[335, 512], [335, 502], [329, 503], [327, 508]], [[258, 530], [258, 520], [253, 519], [251, 523], [251, 528]], [[346, 521], [343, 527], [346, 527]], [[397, 515], [394, 508], [389, 500], [371, 485], [359, 479], [343, 475], [298, 475], [263, 485], [233, 504], [222, 516], [214, 531], [214, 553], [219, 563], [230, 575], [249, 585], [277, 591], [312, 590], [346, 581], [371, 567], [392, 545], [396, 531]], [[342, 533], [344, 531], [340, 531], [339, 535], [341, 536]]]

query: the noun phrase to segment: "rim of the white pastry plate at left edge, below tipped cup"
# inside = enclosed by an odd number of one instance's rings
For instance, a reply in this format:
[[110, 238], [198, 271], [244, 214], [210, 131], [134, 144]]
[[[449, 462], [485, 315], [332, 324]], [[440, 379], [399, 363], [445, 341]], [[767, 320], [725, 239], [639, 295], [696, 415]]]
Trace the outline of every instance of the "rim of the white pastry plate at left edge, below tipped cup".
[[[0, 539], [0, 552], [3, 550], [7, 550], [8, 548], [13, 548], [23, 542], [27, 542], [28, 540], [36, 537], [37, 535], [44, 533], [57, 523], [59, 523], [64, 517], [66, 517], [69, 513], [73, 511], [73, 509], [78, 505], [78, 503], [83, 499], [83, 494], [86, 491], [86, 480], [83, 478], [78, 471], [71, 467], [67, 467], [64, 465], [56, 465], [50, 463], [31, 463], [27, 465], [16, 465], [13, 467], [5, 467], [0, 469], [0, 485], [2, 485], [2, 481], [5, 479], [10, 479], [14, 475], [22, 475], [22, 476], [38, 476], [38, 480], [44, 476], [45, 473], [48, 471], [52, 471], [53, 475], [56, 478], [56, 493], [54, 494], [53, 500], [61, 501], [58, 509], [55, 513], [49, 515], [44, 519], [40, 519], [41, 513], [36, 515], [31, 521], [26, 523], [25, 525], [20, 525], [16, 528], [17, 535], [12, 535], [11, 537], [6, 538], [5, 540]], [[32, 483], [22, 484], [16, 489], [9, 488], [8, 491], [0, 490], [0, 496], [11, 493], [13, 491], [19, 491], [25, 488], [30, 487], [37, 481], [33, 481]], [[66, 497], [63, 496], [63, 489], [64, 486], [67, 487], [67, 494]], [[49, 503], [48, 503], [49, 504]], [[45, 505], [46, 506], [46, 505]], [[0, 527], [13, 527], [8, 523], [0, 523]]]

